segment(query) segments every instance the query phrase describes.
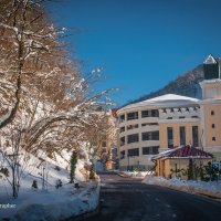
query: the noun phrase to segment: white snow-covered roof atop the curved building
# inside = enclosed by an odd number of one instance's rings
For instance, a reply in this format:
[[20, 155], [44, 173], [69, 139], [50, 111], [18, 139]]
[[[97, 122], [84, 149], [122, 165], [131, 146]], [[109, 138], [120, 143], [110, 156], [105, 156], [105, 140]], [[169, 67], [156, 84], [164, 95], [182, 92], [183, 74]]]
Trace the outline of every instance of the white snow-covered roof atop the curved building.
[[186, 105], [186, 104], [197, 104], [199, 99], [181, 96], [177, 94], [166, 94], [155, 98], [146, 99], [135, 104], [127, 105], [122, 108], [122, 110], [133, 107], [143, 107], [143, 106], [170, 106], [170, 105]]

